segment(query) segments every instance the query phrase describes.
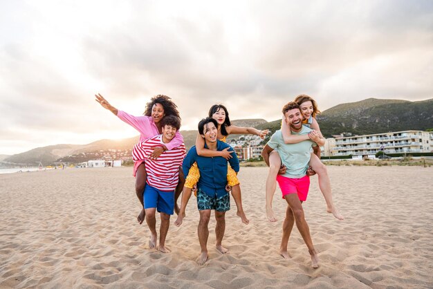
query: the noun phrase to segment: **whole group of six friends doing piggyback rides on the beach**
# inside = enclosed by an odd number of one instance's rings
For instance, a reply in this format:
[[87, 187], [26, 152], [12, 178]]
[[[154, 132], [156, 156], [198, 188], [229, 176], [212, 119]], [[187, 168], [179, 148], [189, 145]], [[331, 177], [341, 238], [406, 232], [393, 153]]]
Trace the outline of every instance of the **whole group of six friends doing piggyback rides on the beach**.
[[[234, 126], [225, 106], [215, 104], [210, 108], [208, 117], [199, 122], [196, 145], [186, 153], [183, 137], [179, 133], [181, 118], [177, 106], [166, 95], [152, 97], [142, 116], [129, 115], [116, 109], [100, 94], [95, 97], [104, 109], [140, 132], [140, 141], [132, 151], [133, 176], [136, 177], [136, 195], [142, 205], [137, 221], [141, 224], [146, 220], [149, 226], [149, 248], [170, 252], [165, 246], [169, 218], [176, 212], [178, 217], [174, 224], [180, 226], [183, 223], [185, 208], [194, 191], [200, 213], [198, 234], [201, 254], [197, 262], [203, 265], [208, 261], [208, 223], [212, 210], [216, 219], [216, 250], [227, 253], [228, 249], [222, 246], [222, 240], [225, 212], [230, 209], [229, 192], [232, 192], [237, 205], [237, 216], [245, 224], [249, 220], [243, 211], [237, 178], [239, 160], [232, 147], [225, 143], [225, 138], [230, 134], [252, 134], [264, 139], [269, 131]], [[315, 115], [320, 111], [311, 97], [299, 95], [294, 102], [288, 102], [283, 107], [282, 113], [282, 128], [273, 134], [261, 153], [270, 167], [266, 180], [266, 215], [269, 221], [277, 221], [272, 201], [276, 183], [279, 183], [282, 197], [288, 204], [280, 254], [284, 258], [289, 257], [288, 239], [296, 223], [311, 254], [312, 266], [317, 268], [319, 259], [302, 209], [310, 185], [309, 176], [317, 173], [327, 212], [343, 219], [333, 205], [329, 176], [326, 167], [320, 162], [319, 146], [324, 144], [324, 138], [315, 120]], [[177, 200], [181, 194], [179, 208]], [[158, 246], [156, 211], [160, 212]]]

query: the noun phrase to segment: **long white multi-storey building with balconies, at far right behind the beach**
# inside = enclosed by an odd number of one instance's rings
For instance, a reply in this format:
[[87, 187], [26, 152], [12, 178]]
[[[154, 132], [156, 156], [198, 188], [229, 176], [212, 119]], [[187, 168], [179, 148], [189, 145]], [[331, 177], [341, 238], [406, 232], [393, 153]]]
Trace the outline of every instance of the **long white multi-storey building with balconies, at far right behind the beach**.
[[[333, 156], [371, 156], [384, 153], [425, 153], [433, 151], [433, 132], [397, 131], [366, 136], [335, 138]], [[326, 150], [325, 150], [326, 151]]]

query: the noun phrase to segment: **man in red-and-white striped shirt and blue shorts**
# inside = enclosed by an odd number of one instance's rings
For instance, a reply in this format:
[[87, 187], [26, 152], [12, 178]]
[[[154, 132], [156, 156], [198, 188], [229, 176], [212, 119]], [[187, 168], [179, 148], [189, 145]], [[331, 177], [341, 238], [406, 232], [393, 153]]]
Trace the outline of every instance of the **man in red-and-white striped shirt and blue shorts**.
[[170, 216], [174, 213], [174, 189], [178, 184], [179, 166], [185, 158], [185, 145], [163, 151], [156, 159], [149, 158], [155, 147], [163, 147], [174, 138], [181, 128], [181, 120], [174, 115], [169, 115], [161, 120], [163, 134], [149, 138], [144, 142], [138, 142], [133, 147], [133, 160], [145, 160], [147, 171], [147, 185], [143, 193], [146, 223], [151, 232], [149, 248], [156, 248], [156, 218], [155, 212], [160, 212], [160, 236], [158, 250], [163, 253], [170, 252], [165, 247]]

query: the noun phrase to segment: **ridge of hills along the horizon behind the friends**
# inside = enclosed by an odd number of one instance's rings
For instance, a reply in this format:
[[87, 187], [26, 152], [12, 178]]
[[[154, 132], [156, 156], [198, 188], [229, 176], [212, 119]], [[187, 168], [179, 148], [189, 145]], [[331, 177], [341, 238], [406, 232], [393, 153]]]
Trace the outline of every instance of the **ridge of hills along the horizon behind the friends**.
[[[433, 99], [410, 102], [408, 100], [380, 100], [367, 98], [359, 102], [338, 104], [317, 115], [322, 134], [328, 138], [335, 134], [365, 135], [388, 131], [421, 130], [433, 128]], [[266, 122], [263, 119], [232, 120], [239, 127], [270, 129], [273, 133], [281, 127], [281, 120]], [[185, 146], [195, 144], [197, 131], [181, 131]], [[235, 138], [235, 137], [234, 137]], [[139, 136], [122, 140], [97, 140], [87, 145], [50, 145], [37, 147], [24, 153], [5, 156], [3, 163], [55, 162], [59, 158], [79, 153], [108, 149], [131, 149]]]

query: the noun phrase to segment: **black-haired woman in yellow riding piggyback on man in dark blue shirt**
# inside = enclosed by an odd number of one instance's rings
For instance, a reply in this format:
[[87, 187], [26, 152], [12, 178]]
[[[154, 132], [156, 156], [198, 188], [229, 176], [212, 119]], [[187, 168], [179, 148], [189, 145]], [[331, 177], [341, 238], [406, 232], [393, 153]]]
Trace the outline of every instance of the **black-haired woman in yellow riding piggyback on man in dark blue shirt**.
[[[268, 129], [259, 131], [254, 127], [237, 127], [232, 125], [230, 118], [228, 117], [228, 111], [222, 104], [214, 104], [209, 110], [209, 117], [214, 118], [214, 120], [218, 122], [218, 139], [223, 142], [225, 142], [225, 138], [230, 134], [252, 134], [263, 139], [269, 133]], [[209, 149], [205, 149], [205, 141], [199, 135], [196, 139], [196, 150], [199, 156], [222, 156], [226, 159], [232, 158], [228, 149], [223, 151], [211, 151]], [[185, 179], [185, 187], [192, 189], [192, 187], [194, 187], [194, 185], [196, 185], [196, 183], [199, 181], [199, 178], [199, 168], [194, 164], [194, 166], [191, 167], [187, 178]], [[245, 212], [243, 212], [242, 207], [240, 183], [236, 172], [230, 166], [227, 169], [227, 183], [228, 186], [232, 187], [232, 196], [234, 203], [236, 203], [237, 206], [237, 216], [241, 218], [243, 223], [248, 224], [250, 221], [248, 221], [248, 218], [246, 217]]]

